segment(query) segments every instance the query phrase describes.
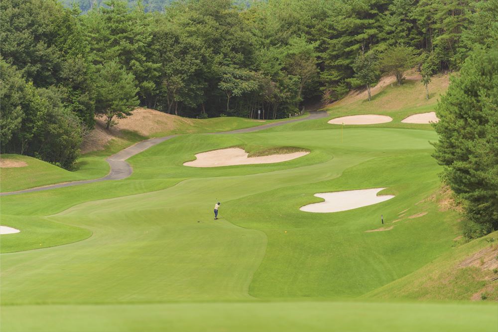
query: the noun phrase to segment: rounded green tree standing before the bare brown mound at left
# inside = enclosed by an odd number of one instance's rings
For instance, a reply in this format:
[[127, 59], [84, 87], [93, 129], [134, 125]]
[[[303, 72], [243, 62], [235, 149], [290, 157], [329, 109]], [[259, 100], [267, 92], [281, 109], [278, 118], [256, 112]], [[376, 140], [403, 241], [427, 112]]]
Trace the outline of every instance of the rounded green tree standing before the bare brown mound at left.
[[115, 118], [125, 118], [138, 106], [135, 80], [131, 73], [117, 62], [109, 61], [99, 67], [95, 78], [96, 108], [106, 116], [106, 128], [115, 124]]

